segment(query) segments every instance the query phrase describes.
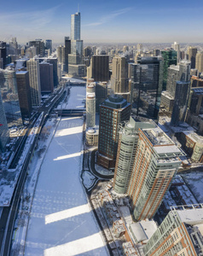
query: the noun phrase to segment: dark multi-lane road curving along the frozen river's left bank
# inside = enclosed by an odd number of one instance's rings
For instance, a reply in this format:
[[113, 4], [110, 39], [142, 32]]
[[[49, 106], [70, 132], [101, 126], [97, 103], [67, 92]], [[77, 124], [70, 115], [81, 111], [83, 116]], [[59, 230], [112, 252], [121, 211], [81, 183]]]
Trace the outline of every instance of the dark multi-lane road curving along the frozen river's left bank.
[[[49, 117], [49, 113], [55, 106], [61, 101], [62, 97], [66, 94], [66, 90], [64, 88], [59, 89], [53, 96], [49, 98], [48, 101], [44, 103], [43, 106], [38, 108], [37, 113], [35, 113], [35, 118], [31, 125], [29, 125], [29, 128], [26, 132], [26, 139], [27, 135], [32, 131], [32, 127], [35, 125], [38, 117], [42, 112], [43, 118], [40, 122], [40, 125], [38, 125], [38, 132], [34, 138], [34, 141], [31, 145], [31, 148], [29, 150], [29, 153], [26, 155], [26, 160], [23, 163], [23, 166], [21, 167], [20, 177], [18, 179], [18, 182], [16, 184], [16, 187], [14, 189], [14, 195], [11, 200], [10, 207], [4, 207], [3, 212], [0, 218], [0, 247], [1, 247], [1, 255], [2, 256], [8, 256], [9, 255], [9, 249], [11, 245], [12, 235], [13, 235], [13, 228], [14, 228], [14, 220], [18, 211], [19, 202], [20, 202], [20, 195], [23, 188], [23, 185], [25, 183], [26, 179], [26, 169], [29, 165], [29, 161], [32, 156], [32, 152], [36, 146], [36, 143], [38, 141], [38, 136], [40, 134], [40, 131], [44, 125], [44, 122]], [[14, 155], [14, 160], [12, 161], [12, 166], [17, 166], [18, 160], [20, 159], [20, 155], [23, 152], [23, 149], [25, 148], [26, 139], [22, 137], [22, 140], [20, 142], [20, 149], [16, 152]]]

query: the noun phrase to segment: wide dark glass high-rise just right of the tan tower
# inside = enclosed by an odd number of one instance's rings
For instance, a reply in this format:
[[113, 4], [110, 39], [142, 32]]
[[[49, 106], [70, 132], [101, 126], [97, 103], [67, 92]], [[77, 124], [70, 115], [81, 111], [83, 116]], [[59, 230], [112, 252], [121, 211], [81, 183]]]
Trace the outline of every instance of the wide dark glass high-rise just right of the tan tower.
[[163, 83], [160, 57], [142, 57], [132, 64], [131, 90], [136, 115], [157, 119]]

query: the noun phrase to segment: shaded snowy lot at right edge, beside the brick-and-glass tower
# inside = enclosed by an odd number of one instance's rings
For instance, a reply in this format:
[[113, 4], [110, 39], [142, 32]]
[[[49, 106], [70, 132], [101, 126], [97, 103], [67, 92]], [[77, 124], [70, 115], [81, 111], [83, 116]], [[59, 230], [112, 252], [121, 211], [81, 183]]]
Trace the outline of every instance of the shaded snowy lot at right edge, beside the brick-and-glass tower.
[[203, 203], [203, 172], [190, 172], [181, 175], [199, 203]]

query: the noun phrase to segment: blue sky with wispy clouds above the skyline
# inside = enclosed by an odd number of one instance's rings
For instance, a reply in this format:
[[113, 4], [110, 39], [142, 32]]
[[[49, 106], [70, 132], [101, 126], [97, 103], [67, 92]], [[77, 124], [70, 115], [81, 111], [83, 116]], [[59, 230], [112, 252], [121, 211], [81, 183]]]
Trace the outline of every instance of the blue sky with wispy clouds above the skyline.
[[2, 1], [0, 40], [63, 42], [78, 3], [84, 42], [203, 42], [203, 0]]

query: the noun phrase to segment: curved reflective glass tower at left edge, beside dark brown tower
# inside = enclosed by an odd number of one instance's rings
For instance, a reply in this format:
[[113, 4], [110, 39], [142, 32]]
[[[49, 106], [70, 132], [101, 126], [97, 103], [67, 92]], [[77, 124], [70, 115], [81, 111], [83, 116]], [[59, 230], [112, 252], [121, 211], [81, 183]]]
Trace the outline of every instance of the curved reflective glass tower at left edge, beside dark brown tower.
[[9, 127], [22, 125], [19, 96], [14, 70], [0, 70], [0, 89]]

